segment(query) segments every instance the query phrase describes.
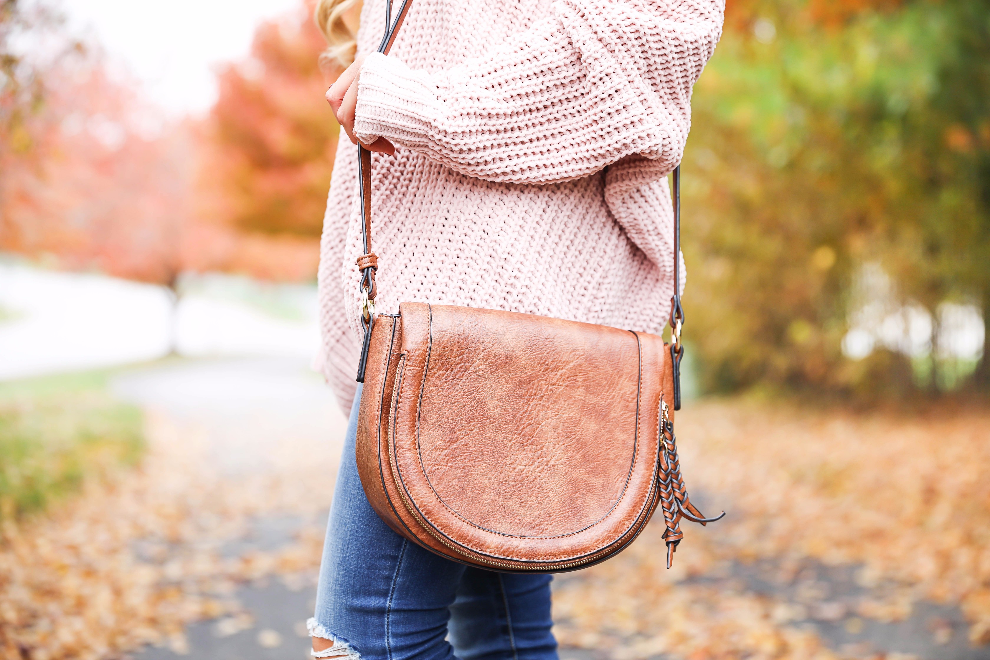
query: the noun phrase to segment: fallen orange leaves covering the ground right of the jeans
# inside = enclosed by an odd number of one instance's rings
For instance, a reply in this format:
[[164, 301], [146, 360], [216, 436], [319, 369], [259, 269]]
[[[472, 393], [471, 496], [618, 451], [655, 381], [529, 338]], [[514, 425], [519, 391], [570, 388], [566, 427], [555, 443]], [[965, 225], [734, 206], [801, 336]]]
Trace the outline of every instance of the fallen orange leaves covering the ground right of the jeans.
[[[990, 642], [990, 413], [707, 403], [680, 414], [678, 438], [689, 491], [729, 515], [685, 523], [669, 571], [652, 525], [623, 555], [565, 580], [564, 643], [616, 658], [872, 655], [882, 649], [830, 650], [800, 622], [855, 632], [923, 602], [960, 605], [969, 643]], [[770, 588], [741, 584], [746, 567], [769, 569]], [[816, 579], [829, 567], [851, 569], [857, 593], [834, 598]], [[951, 636], [947, 621], [926, 624], [936, 645]]]

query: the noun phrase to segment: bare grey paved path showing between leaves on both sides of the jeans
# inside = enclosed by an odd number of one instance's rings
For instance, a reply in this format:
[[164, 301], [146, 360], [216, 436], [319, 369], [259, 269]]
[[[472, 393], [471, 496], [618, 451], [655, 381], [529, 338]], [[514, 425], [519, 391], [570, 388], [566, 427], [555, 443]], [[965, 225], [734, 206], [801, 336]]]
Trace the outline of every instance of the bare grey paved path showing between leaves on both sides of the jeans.
[[[178, 424], [206, 434], [209, 455], [230, 478], [278, 469], [285, 452], [313, 451], [315, 460], [336, 465], [346, 426], [329, 390], [306, 364], [289, 358], [183, 361], [131, 372], [113, 384], [121, 397], [170, 416]], [[328, 480], [328, 488], [330, 481]], [[255, 519], [243, 537], [222, 552], [240, 555], [268, 551], [292, 542], [303, 519], [279, 516]], [[764, 595], [794, 609], [793, 625], [814, 629], [845, 657], [874, 657], [876, 653], [912, 654], [926, 660], [990, 660], [990, 648], [973, 647], [958, 608], [922, 604], [905, 621], [883, 623], [854, 619], [848, 608], [862, 591], [853, 579], [854, 567], [824, 567], [813, 562], [789, 582], [781, 581], [772, 562], [735, 565], [729, 575], [694, 578], [726, 592]], [[558, 587], [582, 580], [582, 572], [559, 576]], [[289, 584], [262, 580], [242, 587], [237, 598], [247, 616], [196, 623], [187, 630], [189, 660], [294, 659], [308, 656], [304, 620], [313, 610], [314, 581]], [[802, 605], [809, 589], [826, 594]], [[814, 605], [817, 603], [818, 605]], [[831, 608], [831, 610], [829, 610]], [[826, 611], [828, 610], [828, 611]], [[841, 610], [841, 612], [840, 612]], [[820, 612], [821, 611], [821, 612]], [[562, 660], [605, 660], [602, 651], [564, 649]], [[165, 660], [180, 655], [148, 649], [142, 660]]]

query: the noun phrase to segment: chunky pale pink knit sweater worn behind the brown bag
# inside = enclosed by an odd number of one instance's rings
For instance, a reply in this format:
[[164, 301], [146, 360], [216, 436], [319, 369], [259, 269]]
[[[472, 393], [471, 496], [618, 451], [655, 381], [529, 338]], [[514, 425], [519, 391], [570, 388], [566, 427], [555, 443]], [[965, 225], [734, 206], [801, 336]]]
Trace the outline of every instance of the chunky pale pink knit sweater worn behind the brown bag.
[[[377, 47], [365, 2], [358, 51]], [[398, 4], [398, 3], [396, 3]], [[405, 301], [660, 331], [672, 293], [666, 175], [724, 0], [415, 0], [361, 71], [377, 311]], [[354, 395], [357, 147], [342, 140], [320, 262], [318, 366]]]

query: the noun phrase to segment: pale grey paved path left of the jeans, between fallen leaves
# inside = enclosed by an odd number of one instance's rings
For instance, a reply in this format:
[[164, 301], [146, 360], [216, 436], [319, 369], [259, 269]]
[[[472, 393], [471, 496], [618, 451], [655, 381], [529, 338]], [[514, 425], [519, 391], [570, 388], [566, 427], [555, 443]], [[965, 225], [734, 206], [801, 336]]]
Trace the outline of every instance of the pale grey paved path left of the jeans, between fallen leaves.
[[[347, 420], [322, 379], [304, 360], [250, 358], [180, 361], [130, 372], [113, 383], [121, 398], [195, 428], [208, 441], [208, 454], [228, 478], [278, 469], [277, 458], [313, 451], [314, 460], [336, 468]], [[327, 488], [332, 488], [328, 479]], [[243, 537], [227, 543], [225, 555], [270, 551], [293, 541], [302, 519], [255, 519]], [[249, 619], [224, 618], [191, 625], [188, 654], [150, 648], [143, 660], [295, 659], [309, 657], [304, 621], [313, 612], [312, 581], [290, 589], [272, 578], [236, 594]]]

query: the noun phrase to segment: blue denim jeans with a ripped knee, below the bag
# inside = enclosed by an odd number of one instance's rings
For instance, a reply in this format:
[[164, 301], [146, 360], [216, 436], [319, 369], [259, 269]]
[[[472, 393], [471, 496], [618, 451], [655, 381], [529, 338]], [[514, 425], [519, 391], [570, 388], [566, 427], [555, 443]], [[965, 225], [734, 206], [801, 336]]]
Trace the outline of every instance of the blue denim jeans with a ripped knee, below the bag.
[[556, 660], [550, 576], [450, 561], [399, 536], [371, 509], [354, 459], [357, 405], [330, 509], [310, 634], [326, 655], [363, 660]]

